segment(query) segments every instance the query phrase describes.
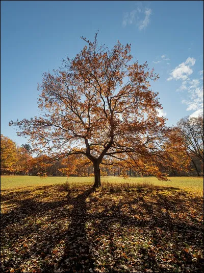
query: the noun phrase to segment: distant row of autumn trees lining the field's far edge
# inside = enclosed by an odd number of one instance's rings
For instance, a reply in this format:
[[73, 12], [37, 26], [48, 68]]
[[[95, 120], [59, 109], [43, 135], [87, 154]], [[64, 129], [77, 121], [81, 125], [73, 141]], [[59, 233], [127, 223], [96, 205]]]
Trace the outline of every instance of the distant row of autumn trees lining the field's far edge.
[[[203, 175], [203, 116], [197, 118], [187, 116], [177, 123], [177, 128], [182, 135], [186, 150], [185, 154], [180, 154], [181, 158], [176, 161], [176, 164], [181, 165], [182, 158], [188, 158], [188, 164], [180, 170], [173, 168], [173, 166], [169, 168], [161, 165], [160, 171], [170, 176]], [[19, 147], [14, 141], [1, 134], [1, 175], [43, 175], [46, 173], [48, 176], [94, 176], [93, 166], [86, 162], [83, 164], [84, 158], [80, 154], [46, 164], [45, 158], [47, 158], [46, 155], [32, 156], [32, 148], [29, 144]], [[111, 176], [146, 175], [145, 172], [138, 173], [133, 167], [124, 168], [119, 165], [101, 166], [100, 174]]]

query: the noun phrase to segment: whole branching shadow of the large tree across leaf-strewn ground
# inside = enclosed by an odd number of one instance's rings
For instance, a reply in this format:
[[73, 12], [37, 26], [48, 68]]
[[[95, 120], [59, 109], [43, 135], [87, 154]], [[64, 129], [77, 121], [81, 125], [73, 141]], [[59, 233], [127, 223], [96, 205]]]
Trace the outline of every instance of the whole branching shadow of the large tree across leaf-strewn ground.
[[[46, 194], [49, 195], [47, 187], [50, 186], [43, 187], [45, 196]], [[57, 191], [56, 189], [56, 193]], [[38, 233], [41, 233], [41, 242], [38, 241], [32, 244], [27, 253], [21, 256], [21, 260], [25, 261], [33, 256], [38, 259], [39, 254], [43, 252], [46, 257], [54, 261], [53, 263], [47, 263], [46, 259], [42, 259], [42, 268], [47, 272], [55, 272], [57, 269], [62, 270], [59, 272], [88, 272], [90, 268], [94, 272], [98, 256], [92, 250], [94, 249], [97, 253], [100, 247], [98, 238], [105, 236], [109, 253], [112, 255], [112, 260], [114, 260], [114, 266], [106, 263], [106, 271], [116, 272], [120, 266], [121, 258], [117, 257], [115, 251], [118, 249], [117, 241], [122, 232], [114, 230], [113, 225], [118, 224], [122, 231], [134, 228], [138, 232], [145, 233], [151, 239], [153, 250], [145, 248], [142, 244], [138, 245], [137, 249], [139, 259], [147, 259], [146, 268], [152, 268], [159, 272], [165, 271], [164, 268], [160, 268], [158, 258], [155, 255], [155, 250], [160, 249], [160, 253], [165, 254], [168, 251], [174, 255], [173, 258], [169, 258], [170, 264], [175, 262], [178, 263], [178, 266], [179, 264], [190, 264], [193, 268], [197, 268], [197, 272], [201, 272], [203, 260], [201, 258], [193, 260], [193, 257], [184, 249], [186, 247], [185, 242], [198, 248], [201, 246], [202, 226], [194, 218], [194, 211], [198, 209], [198, 204], [202, 202], [202, 198], [188, 197], [189, 207], [186, 206], [187, 193], [179, 188], [155, 187], [147, 191], [140, 187], [137, 194], [128, 193], [132, 198], [126, 199], [124, 197], [119, 203], [111, 198], [117, 196], [117, 194], [110, 192], [106, 192], [106, 194], [110, 193], [107, 195], [109, 196], [107, 198], [111, 200], [110, 202], [107, 199], [107, 203], [103, 203], [95, 197], [90, 198], [89, 202], [87, 202], [87, 198], [94, 191], [94, 188], [88, 188], [78, 194], [78, 190], [73, 189], [67, 192], [64, 199], [51, 202], [36, 201], [34, 197], [20, 200], [20, 196], [14, 194], [13, 200], [19, 207], [3, 214], [2, 230], [6, 231], [7, 227], [10, 229], [10, 225], [15, 228], [13, 224], [18, 223], [23, 217], [33, 217], [32, 219], [34, 219], [36, 214], [46, 216], [46, 221], [49, 223], [49, 226], [45, 227], [31, 223], [32, 225], [28, 226], [29, 230], [27, 230], [27, 227], [14, 230], [15, 237], [12, 238], [13, 240], [20, 240], [25, 237], [37, 238]], [[162, 194], [164, 191], [167, 191], [168, 194]], [[73, 197], [72, 193], [78, 194], [77, 197]], [[29, 193], [22, 192], [22, 196], [24, 194]], [[123, 193], [120, 193], [120, 195], [122, 196]], [[98, 193], [97, 196], [100, 198], [103, 193]], [[146, 198], [149, 196], [151, 196], [151, 199]], [[5, 196], [4, 200], [12, 203], [12, 195]], [[99, 210], [99, 207], [103, 207], [103, 210]], [[192, 209], [192, 212], [188, 211], [189, 208]], [[200, 213], [201, 209], [199, 210]], [[184, 217], [178, 220], [176, 215], [180, 213], [183, 213]], [[185, 215], [188, 216], [188, 219], [185, 218]], [[64, 231], [60, 230], [58, 224], [62, 219], [69, 222]], [[91, 229], [93, 229], [93, 233], [90, 236]], [[37, 239], [35, 240], [37, 241]], [[55, 249], [60, 241], [64, 242], [63, 253], [55, 259], [52, 255], [52, 249]], [[10, 262], [12, 263], [12, 260]], [[125, 258], [123, 262], [129, 264], [129, 260], [125, 260]], [[6, 262], [7, 266], [9, 264], [9, 262]], [[141, 270], [136, 264], [132, 263], [130, 265], [136, 271]], [[196, 270], [194, 271], [196, 272]]]

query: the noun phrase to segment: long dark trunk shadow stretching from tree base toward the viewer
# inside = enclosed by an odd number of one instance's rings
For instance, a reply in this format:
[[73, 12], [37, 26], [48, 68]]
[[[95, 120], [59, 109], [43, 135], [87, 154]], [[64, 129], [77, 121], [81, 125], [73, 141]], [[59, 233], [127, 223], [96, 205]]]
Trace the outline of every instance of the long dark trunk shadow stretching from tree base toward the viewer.
[[86, 224], [89, 220], [86, 199], [95, 191], [92, 187], [76, 198], [71, 199], [73, 209], [71, 222], [67, 231], [67, 243], [64, 248], [61, 267], [65, 271], [75, 272], [84, 270], [87, 272], [93, 268], [93, 260], [90, 254], [89, 240], [86, 233]]

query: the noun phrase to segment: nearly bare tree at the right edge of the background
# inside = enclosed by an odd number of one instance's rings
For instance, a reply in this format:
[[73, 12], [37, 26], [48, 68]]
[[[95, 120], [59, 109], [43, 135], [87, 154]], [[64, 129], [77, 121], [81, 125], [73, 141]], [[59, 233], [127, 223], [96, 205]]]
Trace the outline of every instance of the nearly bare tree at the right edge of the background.
[[196, 162], [202, 162], [203, 165], [203, 115], [197, 118], [187, 116], [181, 119], [177, 126], [185, 139], [187, 154], [199, 176]]

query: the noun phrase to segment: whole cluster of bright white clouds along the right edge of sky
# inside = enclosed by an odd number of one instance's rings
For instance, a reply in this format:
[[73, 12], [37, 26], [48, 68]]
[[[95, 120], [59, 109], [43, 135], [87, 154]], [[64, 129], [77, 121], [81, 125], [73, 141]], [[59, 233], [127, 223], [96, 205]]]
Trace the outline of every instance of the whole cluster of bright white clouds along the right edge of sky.
[[[190, 66], [195, 64], [195, 58], [188, 57], [185, 62], [182, 62], [171, 71], [170, 80], [182, 80], [182, 85], [178, 90], [186, 92], [187, 99], [183, 99], [182, 103], [187, 105], [187, 111], [193, 111], [191, 117], [197, 117], [203, 112], [203, 82], [200, 79], [190, 79], [190, 75], [193, 70]], [[199, 71], [199, 75], [202, 75], [203, 71]]]

